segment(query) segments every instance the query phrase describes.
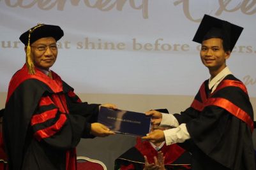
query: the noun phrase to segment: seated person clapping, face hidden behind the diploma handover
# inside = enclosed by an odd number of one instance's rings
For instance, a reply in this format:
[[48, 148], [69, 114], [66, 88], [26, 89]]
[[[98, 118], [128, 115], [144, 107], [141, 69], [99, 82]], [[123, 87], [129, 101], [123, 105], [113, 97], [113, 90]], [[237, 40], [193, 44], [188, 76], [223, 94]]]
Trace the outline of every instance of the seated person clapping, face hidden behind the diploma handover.
[[[160, 109], [161, 113], [169, 113]], [[169, 126], [152, 126], [153, 129], [169, 129]], [[137, 137], [136, 145], [115, 160], [115, 170], [184, 170], [191, 167], [191, 154], [178, 146], [163, 142], [150, 142]], [[158, 164], [155, 166], [154, 164]]]

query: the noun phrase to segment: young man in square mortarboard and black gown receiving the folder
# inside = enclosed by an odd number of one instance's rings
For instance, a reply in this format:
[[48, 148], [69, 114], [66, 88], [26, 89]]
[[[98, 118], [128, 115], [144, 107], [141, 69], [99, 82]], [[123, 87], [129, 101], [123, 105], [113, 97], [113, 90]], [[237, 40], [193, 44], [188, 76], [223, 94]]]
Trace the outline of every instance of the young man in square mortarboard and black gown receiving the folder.
[[226, 66], [242, 30], [204, 15], [193, 41], [202, 44], [200, 58], [209, 69], [209, 80], [181, 114], [146, 113], [152, 115], [153, 124], [176, 128], [153, 131], [144, 139], [183, 143], [192, 152], [192, 169], [255, 170], [252, 104], [245, 85]]

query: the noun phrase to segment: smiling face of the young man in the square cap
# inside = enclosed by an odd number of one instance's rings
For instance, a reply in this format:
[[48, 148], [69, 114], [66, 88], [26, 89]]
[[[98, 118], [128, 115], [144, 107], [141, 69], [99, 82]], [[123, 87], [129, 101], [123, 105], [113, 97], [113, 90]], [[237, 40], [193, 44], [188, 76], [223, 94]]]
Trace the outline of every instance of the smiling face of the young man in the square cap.
[[226, 67], [226, 59], [229, 59], [229, 56], [230, 52], [223, 49], [222, 39], [210, 38], [202, 41], [200, 57], [211, 76], [216, 76]]

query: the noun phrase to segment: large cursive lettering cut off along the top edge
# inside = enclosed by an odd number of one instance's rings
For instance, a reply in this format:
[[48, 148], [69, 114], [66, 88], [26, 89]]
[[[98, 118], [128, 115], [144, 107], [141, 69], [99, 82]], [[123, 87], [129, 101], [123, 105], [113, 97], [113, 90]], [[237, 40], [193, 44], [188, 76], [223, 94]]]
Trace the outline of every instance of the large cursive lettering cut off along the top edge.
[[[0, 0], [1, 1], [1, 0]], [[116, 10], [122, 11], [124, 4], [129, 1], [130, 7], [134, 10], [142, 10], [142, 16], [143, 18], [149, 17], [149, 11], [148, 11], [148, 1], [149, 0], [140, 0], [141, 4], [138, 4], [138, 1], [135, 0], [94, 0], [93, 3], [91, 3], [90, 0], [84, 0], [84, 5], [88, 8], [96, 8], [101, 11], [110, 11], [113, 10], [116, 7]], [[25, 0], [5, 0], [5, 4], [9, 7], [15, 8], [31, 8], [37, 4], [38, 8], [41, 10], [51, 10], [55, 6], [57, 6], [57, 10], [63, 11], [66, 0], [31, 0], [31, 1], [25, 1]], [[72, 6], [79, 6], [80, 0], [70, 0]], [[239, 2], [236, 6], [233, 8], [229, 8], [229, 4], [232, 2], [232, 0], [218, 0], [219, 7], [218, 10], [215, 12], [215, 15], [219, 16], [223, 13], [223, 11], [227, 12], [234, 12], [237, 10], [241, 10], [242, 13], [245, 15], [253, 15], [256, 13], [256, 1], [250, 1], [250, 0], [244, 0]], [[188, 20], [191, 20], [193, 22], [200, 22], [201, 18], [193, 18], [190, 11], [190, 3], [189, 0], [176, 0], [174, 1], [174, 6], [177, 6], [179, 4], [183, 5], [183, 12], [186, 18]]]

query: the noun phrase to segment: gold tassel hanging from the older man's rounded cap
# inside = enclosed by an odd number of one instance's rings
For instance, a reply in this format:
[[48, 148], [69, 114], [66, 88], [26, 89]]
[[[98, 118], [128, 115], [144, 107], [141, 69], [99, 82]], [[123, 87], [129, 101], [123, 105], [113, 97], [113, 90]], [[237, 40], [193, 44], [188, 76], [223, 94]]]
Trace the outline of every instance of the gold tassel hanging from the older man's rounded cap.
[[27, 65], [27, 69], [29, 70], [29, 74], [35, 74], [36, 73], [36, 71], [34, 71], [33, 56], [31, 55], [31, 46], [30, 46], [31, 32], [33, 32], [35, 29], [37, 29], [38, 27], [41, 27], [43, 25], [44, 24], [38, 24], [33, 29], [29, 30], [29, 40], [28, 40], [28, 43], [27, 43], [27, 52], [26, 52], [26, 65]]

